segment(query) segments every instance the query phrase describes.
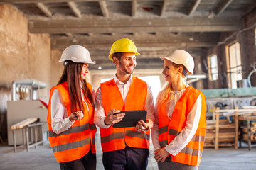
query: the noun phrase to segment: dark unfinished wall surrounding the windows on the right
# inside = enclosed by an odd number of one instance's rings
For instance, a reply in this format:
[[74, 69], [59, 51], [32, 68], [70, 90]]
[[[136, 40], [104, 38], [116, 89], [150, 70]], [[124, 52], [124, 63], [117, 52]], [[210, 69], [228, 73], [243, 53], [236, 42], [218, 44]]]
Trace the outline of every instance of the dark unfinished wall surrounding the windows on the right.
[[[230, 76], [227, 71], [226, 47], [233, 42], [240, 43], [240, 54], [242, 62], [242, 79], [247, 79], [252, 72], [252, 65], [256, 67], [256, 9], [250, 11], [241, 19], [242, 29], [233, 33], [222, 33], [219, 45], [209, 50], [218, 56], [218, 81], [208, 80], [208, 89], [230, 88]], [[252, 86], [256, 86], [256, 73], [250, 78]]]

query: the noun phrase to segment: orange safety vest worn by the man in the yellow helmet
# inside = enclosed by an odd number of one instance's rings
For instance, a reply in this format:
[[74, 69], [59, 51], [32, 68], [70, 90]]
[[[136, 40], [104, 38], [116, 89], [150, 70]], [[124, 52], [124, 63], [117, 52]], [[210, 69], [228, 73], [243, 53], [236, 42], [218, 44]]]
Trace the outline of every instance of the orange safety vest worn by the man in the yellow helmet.
[[[105, 115], [113, 108], [120, 111], [144, 110], [147, 84], [137, 77], [132, 78], [125, 103], [114, 79], [100, 84], [100, 89]], [[100, 128], [100, 136], [103, 152], [124, 149], [125, 145], [149, 148], [149, 130], [138, 132], [135, 127], [113, 128], [110, 126], [109, 128]]]

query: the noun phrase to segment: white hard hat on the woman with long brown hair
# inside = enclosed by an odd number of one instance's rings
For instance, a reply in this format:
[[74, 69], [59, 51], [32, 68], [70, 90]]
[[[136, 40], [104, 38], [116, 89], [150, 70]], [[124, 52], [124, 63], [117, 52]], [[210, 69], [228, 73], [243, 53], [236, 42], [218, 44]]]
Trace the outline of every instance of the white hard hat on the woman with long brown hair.
[[65, 62], [66, 60], [95, 64], [95, 62], [92, 62], [90, 52], [81, 45], [70, 45], [66, 47], [60, 57], [59, 62]]

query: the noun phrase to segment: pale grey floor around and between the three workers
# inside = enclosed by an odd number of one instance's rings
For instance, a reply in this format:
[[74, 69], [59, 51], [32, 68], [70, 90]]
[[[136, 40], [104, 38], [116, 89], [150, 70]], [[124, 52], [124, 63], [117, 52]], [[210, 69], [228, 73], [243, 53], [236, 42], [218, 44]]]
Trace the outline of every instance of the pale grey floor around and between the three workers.
[[[97, 135], [98, 137], [98, 135]], [[99, 140], [96, 140], [99, 141]], [[97, 148], [100, 143], [97, 142]], [[150, 150], [148, 170], [158, 169], [152, 147]], [[50, 145], [46, 143], [31, 148], [26, 152], [25, 148], [18, 148], [17, 153], [8, 145], [0, 145], [0, 169], [2, 170], [57, 170], [59, 169]], [[97, 170], [102, 170], [102, 152], [97, 149]], [[252, 145], [252, 150], [248, 151], [247, 145], [235, 149], [205, 149], [203, 158], [199, 166], [200, 170], [255, 170], [256, 169], [256, 145]]]

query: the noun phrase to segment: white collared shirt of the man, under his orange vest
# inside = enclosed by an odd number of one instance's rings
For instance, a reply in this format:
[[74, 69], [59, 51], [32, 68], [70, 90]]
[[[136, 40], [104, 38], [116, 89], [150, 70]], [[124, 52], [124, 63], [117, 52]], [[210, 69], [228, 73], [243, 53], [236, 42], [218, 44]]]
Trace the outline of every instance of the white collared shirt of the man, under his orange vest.
[[[119, 81], [116, 75], [114, 75], [114, 82], [117, 84], [120, 93], [122, 94], [122, 98], [124, 103], [126, 101], [126, 97], [129, 91], [129, 86], [132, 84], [132, 75], [129, 77], [129, 80], [126, 84]], [[146, 101], [145, 101], [145, 110], [147, 111], [146, 120], [151, 119], [154, 123], [154, 101], [153, 95], [151, 91], [151, 87], [147, 84], [147, 94], [146, 94]], [[96, 92], [96, 99], [95, 99], [95, 118], [94, 123], [95, 125], [99, 126], [100, 128], [109, 128], [110, 125], [105, 125], [105, 110], [102, 104], [102, 93], [100, 87], [97, 89]]]

